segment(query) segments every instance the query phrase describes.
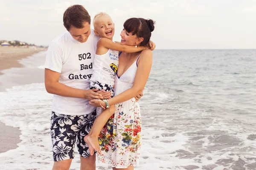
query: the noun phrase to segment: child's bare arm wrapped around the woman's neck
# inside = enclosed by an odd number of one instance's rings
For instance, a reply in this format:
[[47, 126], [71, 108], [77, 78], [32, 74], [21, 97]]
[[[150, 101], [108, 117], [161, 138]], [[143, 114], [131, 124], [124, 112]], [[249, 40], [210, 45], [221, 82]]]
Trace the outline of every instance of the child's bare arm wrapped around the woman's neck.
[[115, 43], [112, 40], [108, 38], [101, 38], [98, 43], [97, 43], [97, 48], [98, 47], [103, 47], [103, 48], [108, 48], [116, 51], [122, 51], [126, 53], [134, 53], [134, 52], [139, 52], [143, 51], [145, 49], [149, 49], [147, 46], [131, 46], [131, 45], [121, 45], [120, 43]]

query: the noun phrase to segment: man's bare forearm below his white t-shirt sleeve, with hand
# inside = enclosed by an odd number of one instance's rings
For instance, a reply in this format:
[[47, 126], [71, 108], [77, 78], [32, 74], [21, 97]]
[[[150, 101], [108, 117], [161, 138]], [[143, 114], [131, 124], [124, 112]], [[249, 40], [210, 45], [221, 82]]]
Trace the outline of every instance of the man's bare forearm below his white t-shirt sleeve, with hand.
[[44, 71], [44, 84], [46, 91], [50, 94], [57, 94], [59, 96], [75, 97], [81, 99], [103, 99], [101, 94], [96, 93], [98, 89], [82, 90], [78, 88], [71, 88], [64, 85], [59, 81], [60, 73], [45, 68]]

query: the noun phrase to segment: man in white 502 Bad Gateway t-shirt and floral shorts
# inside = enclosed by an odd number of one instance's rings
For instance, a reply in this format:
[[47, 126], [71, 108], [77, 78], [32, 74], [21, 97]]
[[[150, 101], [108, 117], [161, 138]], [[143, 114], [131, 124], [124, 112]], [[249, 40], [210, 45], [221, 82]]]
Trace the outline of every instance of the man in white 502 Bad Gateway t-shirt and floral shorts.
[[52, 40], [45, 61], [45, 87], [48, 93], [54, 94], [51, 117], [52, 169], [70, 168], [76, 143], [81, 170], [95, 170], [96, 156], [90, 156], [83, 140], [96, 118], [96, 108], [88, 101], [111, 96], [110, 92], [89, 90], [99, 37], [90, 29], [90, 15], [83, 6], [67, 8], [63, 22], [67, 32]]

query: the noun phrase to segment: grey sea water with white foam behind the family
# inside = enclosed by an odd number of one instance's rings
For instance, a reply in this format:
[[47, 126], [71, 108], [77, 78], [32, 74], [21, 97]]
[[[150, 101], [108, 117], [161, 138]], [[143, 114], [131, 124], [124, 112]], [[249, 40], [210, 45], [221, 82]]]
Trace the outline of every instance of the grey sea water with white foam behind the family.
[[[137, 170], [256, 170], [256, 50], [155, 50], [140, 99], [143, 145]], [[18, 147], [0, 169], [52, 168], [52, 94], [42, 76], [45, 52], [0, 76], [37, 76], [0, 92], [0, 121], [19, 127]], [[39, 82], [39, 83], [38, 83]], [[98, 170], [111, 169], [97, 163]], [[75, 153], [70, 170], [80, 169]]]

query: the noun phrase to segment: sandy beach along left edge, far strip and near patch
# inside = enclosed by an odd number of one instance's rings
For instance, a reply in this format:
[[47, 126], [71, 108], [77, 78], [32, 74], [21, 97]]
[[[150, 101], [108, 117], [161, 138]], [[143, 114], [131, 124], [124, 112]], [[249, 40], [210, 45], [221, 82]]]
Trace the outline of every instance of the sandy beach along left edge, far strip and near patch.
[[[3, 91], [3, 89], [6, 87], [11, 88], [12, 86], [12, 82], [9, 82], [9, 79], [7, 79], [6, 82], [3, 82], [6, 76], [3, 74], [3, 70], [22, 67], [23, 65], [19, 62], [20, 59], [32, 56], [35, 53], [45, 50], [45, 48], [31, 49], [0, 46], [0, 77], [3, 77], [0, 79], [0, 91]], [[0, 122], [0, 129], [2, 133], [0, 136], [0, 153], [17, 148], [17, 143], [20, 142], [19, 129], [6, 126], [2, 122]]]

